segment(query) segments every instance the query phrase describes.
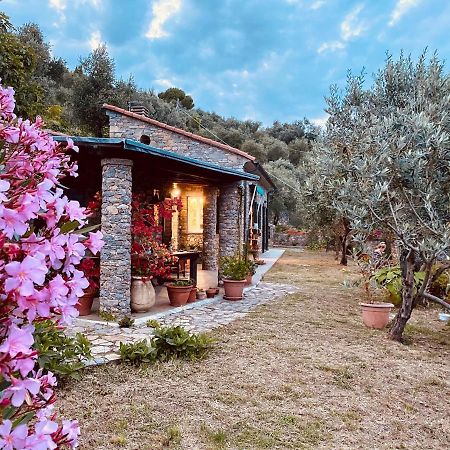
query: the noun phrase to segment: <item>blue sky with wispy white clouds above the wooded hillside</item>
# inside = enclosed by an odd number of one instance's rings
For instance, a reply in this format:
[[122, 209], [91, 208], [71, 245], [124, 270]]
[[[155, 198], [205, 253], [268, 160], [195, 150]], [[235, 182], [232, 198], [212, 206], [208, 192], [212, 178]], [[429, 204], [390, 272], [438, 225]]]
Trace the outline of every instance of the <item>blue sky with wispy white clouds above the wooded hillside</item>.
[[320, 122], [329, 85], [348, 69], [373, 73], [387, 50], [450, 55], [448, 0], [0, 0], [0, 10], [38, 23], [72, 68], [105, 42], [118, 76], [265, 125]]

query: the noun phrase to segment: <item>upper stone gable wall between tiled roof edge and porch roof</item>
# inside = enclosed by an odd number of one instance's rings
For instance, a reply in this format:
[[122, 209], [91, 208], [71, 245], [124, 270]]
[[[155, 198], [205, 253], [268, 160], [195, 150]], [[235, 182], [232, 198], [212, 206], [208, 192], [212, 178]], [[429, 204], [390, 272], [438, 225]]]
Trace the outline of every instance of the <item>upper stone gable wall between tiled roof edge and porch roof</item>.
[[146, 135], [150, 138], [150, 145], [153, 147], [237, 170], [243, 170], [244, 164], [248, 161], [244, 156], [115, 111], [107, 110], [106, 114], [109, 116], [109, 136], [112, 138], [139, 141], [142, 135]]

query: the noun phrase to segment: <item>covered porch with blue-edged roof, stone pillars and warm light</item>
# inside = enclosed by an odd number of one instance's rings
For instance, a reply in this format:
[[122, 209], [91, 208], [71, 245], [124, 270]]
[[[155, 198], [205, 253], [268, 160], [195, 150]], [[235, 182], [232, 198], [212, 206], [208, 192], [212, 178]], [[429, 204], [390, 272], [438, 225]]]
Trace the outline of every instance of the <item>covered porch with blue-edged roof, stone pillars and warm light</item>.
[[[145, 193], [155, 203], [181, 200], [180, 211], [161, 223], [161, 242], [180, 256], [181, 264], [172, 276], [196, 278], [201, 289], [217, 286], [219, 258], [243, 247], [242, 211], [247, 201], [243, 182], [256, 182], [259, 177], [131, 139], [72, 139], [80, 148], [76, 155], [80, 177], [68, 185], [69, 196], [88, 205], [101, 192], [101, 208], [93, 220], [101, 224], [105, 235], [100, 295], [87, 318], [98, 319], [99, 311], [116, 317], [131, 315], [133, 194]], [[170, 308], [166, 288], [154, 284], [156, 303], [150, 314]]]

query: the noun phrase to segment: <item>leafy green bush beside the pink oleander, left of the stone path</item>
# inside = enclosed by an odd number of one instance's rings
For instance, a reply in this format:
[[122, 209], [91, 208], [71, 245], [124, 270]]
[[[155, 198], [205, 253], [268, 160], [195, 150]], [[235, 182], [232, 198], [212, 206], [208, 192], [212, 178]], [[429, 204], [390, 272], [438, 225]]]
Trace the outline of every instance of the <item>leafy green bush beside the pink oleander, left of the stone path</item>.
[[84, 361], [92, 358], [86, 336], [77, 333], [69, 337], [52, 320], [35, 323], [33, 348], [38, 352], [38, 367], [60, 377], [78, 379]]

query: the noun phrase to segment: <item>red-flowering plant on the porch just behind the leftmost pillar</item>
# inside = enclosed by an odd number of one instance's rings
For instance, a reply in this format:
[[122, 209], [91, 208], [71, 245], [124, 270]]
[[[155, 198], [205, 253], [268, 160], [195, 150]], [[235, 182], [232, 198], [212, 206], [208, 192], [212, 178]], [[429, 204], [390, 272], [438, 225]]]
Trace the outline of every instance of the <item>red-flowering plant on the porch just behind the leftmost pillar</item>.
[[166, 199], [151, 205], [143, 194], [134, 194], [131, 204], [132, 246], [131, 273], [145, 278], [166, 278], [177, 262], [162, 241], [162, 219], [170, 219], [182, 208], [179, 198]]

